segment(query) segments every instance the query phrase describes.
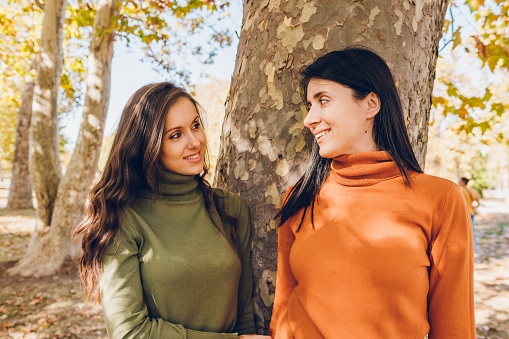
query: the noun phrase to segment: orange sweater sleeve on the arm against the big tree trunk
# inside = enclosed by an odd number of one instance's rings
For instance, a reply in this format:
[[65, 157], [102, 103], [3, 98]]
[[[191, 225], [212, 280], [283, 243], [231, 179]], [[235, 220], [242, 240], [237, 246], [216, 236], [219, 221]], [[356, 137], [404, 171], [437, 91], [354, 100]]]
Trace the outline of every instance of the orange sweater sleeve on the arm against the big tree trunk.
[[269, 326], [269, 335], [272, 337], [276, 335], [278, 320], [280, 315], [286, 310], [288, 298], [295, 286], [297, 286], [297, 281], [290, 267], [290, 250], [295, 241], [295, 235], [289, 225], [290, 221], [291, 219], [278, 229], [276, 295]]

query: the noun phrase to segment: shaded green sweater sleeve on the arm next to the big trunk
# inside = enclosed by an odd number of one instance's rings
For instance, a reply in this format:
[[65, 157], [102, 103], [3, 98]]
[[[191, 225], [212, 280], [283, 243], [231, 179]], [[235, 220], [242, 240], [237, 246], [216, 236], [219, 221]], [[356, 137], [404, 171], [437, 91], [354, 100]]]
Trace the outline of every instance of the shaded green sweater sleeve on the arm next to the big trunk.
[[253, 315], [253, 303], [251, 300], [253, 289], [253, 272], [251, 268], [251, 223], [249, 208], [244, 199], [238, 196], [240, 211], [237, 216], [237, 235], [240, 247], [240, 260], [242, 271], [239, 282], [239, 299], [237, 306], [237, 323], [234, 331], [239, 334], [256, 333]]

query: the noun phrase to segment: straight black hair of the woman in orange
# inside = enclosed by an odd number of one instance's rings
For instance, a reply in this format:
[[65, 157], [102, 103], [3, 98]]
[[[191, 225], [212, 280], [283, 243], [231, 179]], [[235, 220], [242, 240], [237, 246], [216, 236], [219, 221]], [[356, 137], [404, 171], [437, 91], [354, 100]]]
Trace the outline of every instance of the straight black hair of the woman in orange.
[[[422, 169], [412, 150], [398, 91], [385, 61], [365, 47], [349, 47], [319, 57], [301, 74], [304, 102], [307, 101], [307, 87], [311, 79], [330, 80], [349, 87], [357, 100], [364, 99], [371, 92], [378, 95], [380, 111], [373, 123], [373, 139], [396, 162], [406, 185], [410, 187], [407, 171], [422, 173]], [[309, 206], [313, 221], [315, 198], [329, 176], [332, 162], [332, 159], [322, 158], [319, 150], [314, 140], [306, 173], [292, 187], [276, 216], [280, 226], [304, 208], [299, 230]]]

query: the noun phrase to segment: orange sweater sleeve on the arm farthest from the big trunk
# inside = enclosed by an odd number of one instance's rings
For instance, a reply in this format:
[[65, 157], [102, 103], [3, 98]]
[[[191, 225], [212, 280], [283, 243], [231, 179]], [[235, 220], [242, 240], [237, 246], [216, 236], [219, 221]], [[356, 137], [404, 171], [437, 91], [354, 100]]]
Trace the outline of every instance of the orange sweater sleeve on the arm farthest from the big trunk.
[[473, 233], [459, 187], [442, 206], [431, 234], [429, 339], [475, 338]]

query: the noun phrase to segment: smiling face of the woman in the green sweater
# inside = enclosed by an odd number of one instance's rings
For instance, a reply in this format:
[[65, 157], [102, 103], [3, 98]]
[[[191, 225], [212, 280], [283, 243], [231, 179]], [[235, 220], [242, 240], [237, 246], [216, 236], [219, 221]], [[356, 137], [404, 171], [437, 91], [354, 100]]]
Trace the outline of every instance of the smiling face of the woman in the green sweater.
[[196, 175], [203, 171], [205, 133], [194, 104], [179, 99], [168, 111], [159, 160], [168, 171]]

